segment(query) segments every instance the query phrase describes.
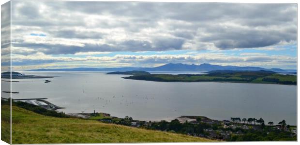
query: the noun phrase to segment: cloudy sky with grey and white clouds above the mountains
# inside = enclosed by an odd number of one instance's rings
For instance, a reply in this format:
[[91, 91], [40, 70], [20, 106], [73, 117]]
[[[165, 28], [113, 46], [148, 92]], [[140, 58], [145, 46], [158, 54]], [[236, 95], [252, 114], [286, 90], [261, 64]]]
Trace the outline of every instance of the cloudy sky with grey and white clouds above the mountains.
[[296, 69], [296, 15], [295, 4], [13, 1], [13, 69]]

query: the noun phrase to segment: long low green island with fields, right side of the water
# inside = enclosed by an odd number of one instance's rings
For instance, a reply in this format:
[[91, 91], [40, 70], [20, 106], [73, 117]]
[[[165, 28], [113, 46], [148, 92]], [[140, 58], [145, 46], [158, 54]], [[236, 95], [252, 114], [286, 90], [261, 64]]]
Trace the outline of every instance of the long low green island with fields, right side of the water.
[[297, 75], [272, 71], [211, 71], [206, 74], [144, 74], [122, 77], [124, 79], [158, 82], [233, 82], [297, 85]]

